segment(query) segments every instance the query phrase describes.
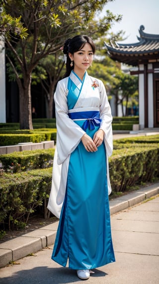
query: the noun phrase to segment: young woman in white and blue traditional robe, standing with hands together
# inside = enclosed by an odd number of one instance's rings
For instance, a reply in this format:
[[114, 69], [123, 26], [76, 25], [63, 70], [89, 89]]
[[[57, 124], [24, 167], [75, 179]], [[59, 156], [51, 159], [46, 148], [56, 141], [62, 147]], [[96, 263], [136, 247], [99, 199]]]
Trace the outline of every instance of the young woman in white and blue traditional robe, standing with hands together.
[[114, 262], [108, 156], [112, 116], [103, 83], [87, 74], [95, 46], [77, 35], [62, 48], [67, 72], [55, 94], [57, 144], [48, 209], [60, 217], [52, 259], [88, 279]]

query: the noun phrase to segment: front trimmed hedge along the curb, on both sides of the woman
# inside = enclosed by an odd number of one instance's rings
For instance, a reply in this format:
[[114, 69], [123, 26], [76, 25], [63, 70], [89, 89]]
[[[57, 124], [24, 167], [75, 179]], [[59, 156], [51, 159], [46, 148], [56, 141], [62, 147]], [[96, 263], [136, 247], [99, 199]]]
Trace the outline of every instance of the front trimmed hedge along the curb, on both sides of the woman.
[[[109, 158], [109, 171], [112, 192], [124, 192], [137, 184], [159, 179], [159, 144], [123, 144], [122, 149], [115, 149]], [[3, 173], [0, 177], [0, 223], [3, 228], [4, 224], [10, 229], [25, 226], [37, 206], [42, 206], [47, 218], [51, 180], [52, 167]]]

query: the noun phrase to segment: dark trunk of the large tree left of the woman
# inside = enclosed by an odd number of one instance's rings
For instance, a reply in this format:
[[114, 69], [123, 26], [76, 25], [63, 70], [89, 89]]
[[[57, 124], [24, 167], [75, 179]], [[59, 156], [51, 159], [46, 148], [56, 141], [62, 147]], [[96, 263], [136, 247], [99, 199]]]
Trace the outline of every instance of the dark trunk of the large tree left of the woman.
[[33, 129], [31, 110], [31, 75], [24, 76], [19, 86], [20, 129]]

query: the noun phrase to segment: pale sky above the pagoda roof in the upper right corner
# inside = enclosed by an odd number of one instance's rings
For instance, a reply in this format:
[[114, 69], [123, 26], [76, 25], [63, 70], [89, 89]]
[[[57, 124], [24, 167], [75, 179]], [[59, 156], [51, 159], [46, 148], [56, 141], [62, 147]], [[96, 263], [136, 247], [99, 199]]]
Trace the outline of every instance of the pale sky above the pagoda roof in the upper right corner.
[[114, 33], [125, 31], [127, 39], [123, 43], [138, 42], [141, 25], [145, 26], [144, 32], [159, 34], [159, 0], [114, 0], [105, 5], [102, 15], [107, 9], [123, 15], [122, 20], [111, 28]]

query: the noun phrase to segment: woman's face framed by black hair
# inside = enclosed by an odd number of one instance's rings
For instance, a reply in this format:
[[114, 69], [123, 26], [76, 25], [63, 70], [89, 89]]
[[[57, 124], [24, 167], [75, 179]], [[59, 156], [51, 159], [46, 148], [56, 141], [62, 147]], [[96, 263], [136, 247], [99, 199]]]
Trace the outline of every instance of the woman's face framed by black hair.
[[76, 73], [85, 71], [89, 68], [93, 61], [93, 51], [89, 43], [85, 43], [84, 46], [74, 54], [69, 53], [71, 60], [74, 60], [74, 71]]

